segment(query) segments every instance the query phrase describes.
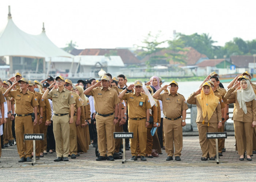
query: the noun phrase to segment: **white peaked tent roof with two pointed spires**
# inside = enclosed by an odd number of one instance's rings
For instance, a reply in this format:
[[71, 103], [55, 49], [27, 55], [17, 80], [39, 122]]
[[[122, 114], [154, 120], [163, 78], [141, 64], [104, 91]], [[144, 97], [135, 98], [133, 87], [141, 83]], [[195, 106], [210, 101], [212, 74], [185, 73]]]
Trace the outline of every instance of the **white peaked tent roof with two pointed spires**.
[[8, 15], [6, 27], [0, 31], [0, 56], [73, 57], [73, 55], [55, 46], [46, 36], [44, 28], [39, 35], [28, 34], [15, 25], [10, 15]]

